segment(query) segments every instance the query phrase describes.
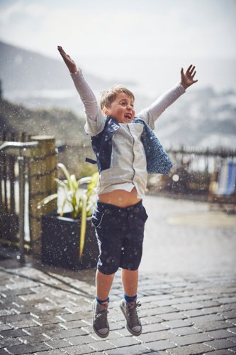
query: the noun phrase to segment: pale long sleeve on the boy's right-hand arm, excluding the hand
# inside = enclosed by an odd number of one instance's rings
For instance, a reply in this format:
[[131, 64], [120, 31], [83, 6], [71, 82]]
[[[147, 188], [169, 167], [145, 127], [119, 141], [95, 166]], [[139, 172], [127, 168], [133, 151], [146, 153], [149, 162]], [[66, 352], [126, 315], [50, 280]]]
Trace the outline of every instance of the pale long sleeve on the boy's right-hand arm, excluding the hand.
[[145, 120], [152, 129], [154, 129], [154, 122], [157, 120], [159, 115], [167, 109], [174, 101], [176, 101], [185, 92], [181, 84], [174, 85], [173, 88], [164, 92], [161, 96], [157, 98], [152, 104], [144, 110], [141, 110], [137, 117]]

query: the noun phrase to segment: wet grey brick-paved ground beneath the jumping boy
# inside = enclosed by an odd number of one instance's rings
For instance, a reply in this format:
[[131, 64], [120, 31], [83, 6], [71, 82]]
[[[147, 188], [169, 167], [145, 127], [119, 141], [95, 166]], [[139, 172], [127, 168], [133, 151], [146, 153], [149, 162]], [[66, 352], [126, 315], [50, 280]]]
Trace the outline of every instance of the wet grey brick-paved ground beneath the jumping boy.
[[138, 296], [143, 332], [125, 328], [118, 271], [111, 332], [91, 327], [95, 270], [73, 272], [30, 260], [0, 261], [1, 354], [236, 353], [236, 217], [207, 203], [147, 196]]

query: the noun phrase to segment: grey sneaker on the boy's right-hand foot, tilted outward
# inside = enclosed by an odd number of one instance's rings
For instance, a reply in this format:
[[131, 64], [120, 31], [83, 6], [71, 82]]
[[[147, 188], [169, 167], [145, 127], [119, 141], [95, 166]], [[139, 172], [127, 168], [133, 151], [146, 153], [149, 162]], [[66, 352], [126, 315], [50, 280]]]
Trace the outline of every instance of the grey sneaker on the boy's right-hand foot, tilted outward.
[[124, 299], [120, 301], [120, 309], [122, 310], [127, 321], [126, 327], [133, 335], [142, 333], [142, 324], [137, 315], [137, 307], [140, 307], [140, 302], [126, 302]]

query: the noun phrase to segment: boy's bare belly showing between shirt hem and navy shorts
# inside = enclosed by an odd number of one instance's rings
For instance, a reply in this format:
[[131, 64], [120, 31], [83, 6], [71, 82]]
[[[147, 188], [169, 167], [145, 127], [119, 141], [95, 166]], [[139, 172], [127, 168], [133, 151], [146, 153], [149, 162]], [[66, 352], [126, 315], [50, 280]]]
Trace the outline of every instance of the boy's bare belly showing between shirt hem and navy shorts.
[[140, 202], [141, 198], [137, 198], [137, 190], [134, 187], [130, 192], [125, 190], [114, 190], [106, 192], [106, 194], [100, 194], [99, 201], [103, 203], [111, 203], [112, 205], [119, 207], [128, 207]]

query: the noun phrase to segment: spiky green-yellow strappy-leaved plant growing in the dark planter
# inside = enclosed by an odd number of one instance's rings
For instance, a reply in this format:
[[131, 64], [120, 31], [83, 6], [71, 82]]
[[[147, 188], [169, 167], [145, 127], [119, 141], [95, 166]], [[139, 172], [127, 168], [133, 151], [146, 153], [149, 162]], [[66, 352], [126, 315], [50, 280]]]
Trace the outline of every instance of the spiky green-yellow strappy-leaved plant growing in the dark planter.
[[[81, 216], [79, 258], [82, 258], [86, 233], [86, 218], [91, 216], [94, 211], [99, 173], [96, 172], [91, 176], [86, 176], [77, 180], [74, 174], [69, 174], [69, 171], [64, 164], [59, 163], [57, 166], [62, 169], [66, 179], [55, 179], [58, 186], [57, 194], [52, 194], [43, 198], [43, 200], [38, 203], [38, 208], [42, 208], [45, 204], [55, 198], [58, 199], [59, 194], [64, 194], [60, 216], [63, 216], [66, 205], [70, 206], [72, 218], [77, 219]], [[83, 184], [87, 184], [86, 189], [81, 188]]]

